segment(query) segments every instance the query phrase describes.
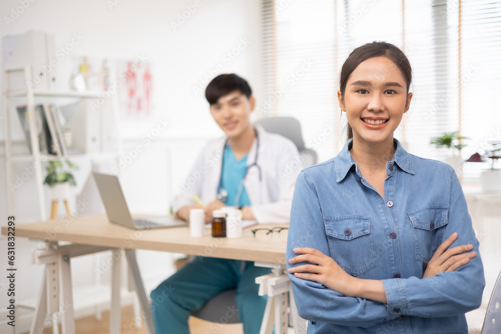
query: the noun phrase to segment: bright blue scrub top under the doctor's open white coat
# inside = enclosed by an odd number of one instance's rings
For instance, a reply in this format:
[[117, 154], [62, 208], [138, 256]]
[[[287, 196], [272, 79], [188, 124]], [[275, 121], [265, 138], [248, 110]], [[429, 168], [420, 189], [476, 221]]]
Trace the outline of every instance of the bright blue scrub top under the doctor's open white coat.
[[[250, 200], [243, 186], [243, 178], [247, 171], [247, 155], [236, 160], [233, 150], [229, 145], [224, 149], [224, 158], [221, 171], [221, 188], [228, 192], [224, 204], [228, 206], [249, 206]], [[241, 190], [240, 190], [241, 189]], [[238, 193], [240, 195], [238, 196]]]

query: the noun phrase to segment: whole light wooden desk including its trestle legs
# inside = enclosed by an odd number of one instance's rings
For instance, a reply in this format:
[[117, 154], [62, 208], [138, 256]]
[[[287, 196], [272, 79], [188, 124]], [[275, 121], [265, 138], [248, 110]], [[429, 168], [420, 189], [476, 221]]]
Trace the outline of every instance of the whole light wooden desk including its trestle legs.
[[[261, 224], [259, 226], [271, 228], [287, 225]], [[129, 266], [134, 276], [139, 301], [145, 314], [146, 326], [150, 333], [154, 332], [153, 321], [133, 249], [149, 249], [190, 255], [266, 262], [270, 264], [270, 267], [275, 266], [277, 270], [280, 270], [280, 274], [282, 274], [286, 261], [286, 243], [280, 240], [272, 240], [268, 243], [258, 242], [252, 235], [251, 230], [253, 228], [253, 226], [245, 228], [243, 230], [243, 237], [240, 239], [212, 238], [208, 229], [205, 231], [205, 236], [202, 238], [192, 238], [189, 236], [188, 227], [131, 230], [109, 222], [105, 214], [86, 215], [30, 224], [16, 224], [16, 237], [40, 239], [48, 242], [50, 245], [50, 249], [39, 250], [37, 251], [38, 254], [35, 256], [36, 259], [38, 259], [37, 263], [46, 264], [46, 277], [44, 278], [44, 282], [42, 282], [42, 292], [38, 300], [36, 316], [31, 332], [36, 332], [38, 328], [40, 328], [40, 323], [43, 323], [46, 313], [52, 313], [51, 306], [44, 305], [44, 300], [49, 299], [50, 304], [50, 299], [52, 297], [55, 299], [55, 303], [58, 303], [58, 299], [61, 299], [63, 303], [62, 306], [65, 309], [64, 312], [62, 312], [61, 318], [63, 333], [75, 333], [69, 260], [72, 256], [108, 249], [114, 251], [113, 258], [115, 261], [112, 268], [112, 306], [110, 309], [110, 332], [113, 333], [120, 332], [120, 309], [118, 307], [117, 310], [116, 307], [117, 305], [119, 306], [120, 299], [120, 261], [116, 259], [116, 256], [120, 257], [121, 249], [125, 249], [125, 255], [127, 256]], [[8, 227], [2, 227], [2, 234], [7, 235], [7, 233]], [[69, 241], [74, 244], [58, 246], [58, 241]], [[59, 271], [59, 274], [54, 274], [54, 270]], [[278, 277], [279, 271], [276, 272], [276, 276]], [[284, 280], [283, 276], [282, 274], [282, 280], [277, 284], [282, 284]], [[44, 294], [44, 291], [46, 291], [46, 284], [50, 284], [53, 280], [57, 281], [58, 277], [59, 284], [57, 287], [59, 288], [61, 297], [58, 298], [56, 295], [50, 296]], [[273, 308], [273, 304], [270, 306], [267, 305], [267, 311], [273, 311], [270, 308]], [[52, 311], [57, 311], [58, 309], [59, 306], [56, 309], [52, 309]], [[38, 323], [38, 327], [36, 323]]]

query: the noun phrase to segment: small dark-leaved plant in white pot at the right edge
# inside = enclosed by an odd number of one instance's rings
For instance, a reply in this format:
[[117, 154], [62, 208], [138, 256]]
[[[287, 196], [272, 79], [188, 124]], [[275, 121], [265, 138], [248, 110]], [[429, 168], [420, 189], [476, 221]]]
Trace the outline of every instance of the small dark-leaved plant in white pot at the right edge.
[[495, 169], [496, 162], [501, 159], [501, 142], [488, 142], [492, 148], [483, 154], [475, 153], [466, 162], [489, 162], [490, 169], [480, 173], [480, 189], [487, 194], [501, 193], [501, 170]]

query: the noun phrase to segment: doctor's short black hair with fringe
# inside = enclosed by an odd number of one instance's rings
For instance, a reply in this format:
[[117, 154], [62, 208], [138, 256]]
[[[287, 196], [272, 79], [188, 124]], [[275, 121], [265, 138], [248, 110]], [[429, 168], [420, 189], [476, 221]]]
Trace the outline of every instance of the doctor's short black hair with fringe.
[[205, 98], [210, 105], [213, 105], [221, 97], [234, 91], [240, 91], [247, 99], [252, 95], [252, 90], [245, 79], [233, 73], [220, 74], [212, 79], [205, 88]]

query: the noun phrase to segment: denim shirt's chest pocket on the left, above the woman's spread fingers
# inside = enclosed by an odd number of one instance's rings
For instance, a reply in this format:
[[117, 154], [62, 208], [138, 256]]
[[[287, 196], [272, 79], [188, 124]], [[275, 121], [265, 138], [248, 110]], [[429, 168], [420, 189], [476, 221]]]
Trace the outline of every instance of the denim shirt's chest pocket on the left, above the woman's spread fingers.
[[332, 258], [354, 276], [376, 266], [376, 244], [370, 218], [346, 215], [324, 218]]

